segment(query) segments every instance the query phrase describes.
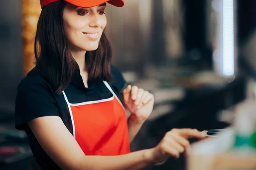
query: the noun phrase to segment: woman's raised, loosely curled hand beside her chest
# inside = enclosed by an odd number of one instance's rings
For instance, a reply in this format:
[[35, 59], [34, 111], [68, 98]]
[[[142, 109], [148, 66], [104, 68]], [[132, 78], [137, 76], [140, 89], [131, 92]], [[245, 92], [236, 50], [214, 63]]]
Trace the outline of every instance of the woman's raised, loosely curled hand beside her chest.
[[153, 110], [154, 96], [142, 88], [131, 87], [131, 85], [128, 85], [123, 91], [123, 96], [125, 105], [133, 119], [139, 123], [144, 123]]

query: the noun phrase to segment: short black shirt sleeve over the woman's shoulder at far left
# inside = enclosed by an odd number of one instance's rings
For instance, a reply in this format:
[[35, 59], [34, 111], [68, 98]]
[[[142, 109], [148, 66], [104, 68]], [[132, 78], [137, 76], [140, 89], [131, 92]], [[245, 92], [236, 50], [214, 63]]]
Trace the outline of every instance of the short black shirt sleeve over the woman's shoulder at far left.
[[24, 77], [18, 88], [15, 102], [15, 126], [24, 130], [27, 122], [42, 116], [59, 116], [52, 88], [34, 69]]

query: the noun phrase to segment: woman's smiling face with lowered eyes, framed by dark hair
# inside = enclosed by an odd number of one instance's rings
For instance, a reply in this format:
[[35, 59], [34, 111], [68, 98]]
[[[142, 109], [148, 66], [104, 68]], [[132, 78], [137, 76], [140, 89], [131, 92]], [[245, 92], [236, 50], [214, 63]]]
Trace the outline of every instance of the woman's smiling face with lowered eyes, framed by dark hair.
[[75, 51], [93, 51], [107, 24], [106, 3], [92, 8], [80, 8], [67, 3], [63, 11], [64, 30]]

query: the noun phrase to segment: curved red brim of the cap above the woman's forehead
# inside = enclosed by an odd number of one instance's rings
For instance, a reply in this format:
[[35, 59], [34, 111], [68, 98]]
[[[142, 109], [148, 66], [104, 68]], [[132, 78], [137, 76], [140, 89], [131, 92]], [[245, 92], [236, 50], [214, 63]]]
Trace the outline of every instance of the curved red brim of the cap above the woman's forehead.
[[106, 2], [117, 7], [122, 7], [125, 5], [123, 0], [65, 0], [65, 1], [74, 6], [79, 6], [82, 8], [90, 8]]

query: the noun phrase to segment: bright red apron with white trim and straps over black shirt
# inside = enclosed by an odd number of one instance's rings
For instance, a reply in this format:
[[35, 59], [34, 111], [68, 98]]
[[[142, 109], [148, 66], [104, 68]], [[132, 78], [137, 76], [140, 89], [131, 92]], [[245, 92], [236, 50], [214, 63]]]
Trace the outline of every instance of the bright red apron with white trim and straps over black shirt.
[[110, 85], [108, 99], [72, 104], [68, 102], [73, 136], [85, 155], [121, 155], [130, 153], [125, 109]]

